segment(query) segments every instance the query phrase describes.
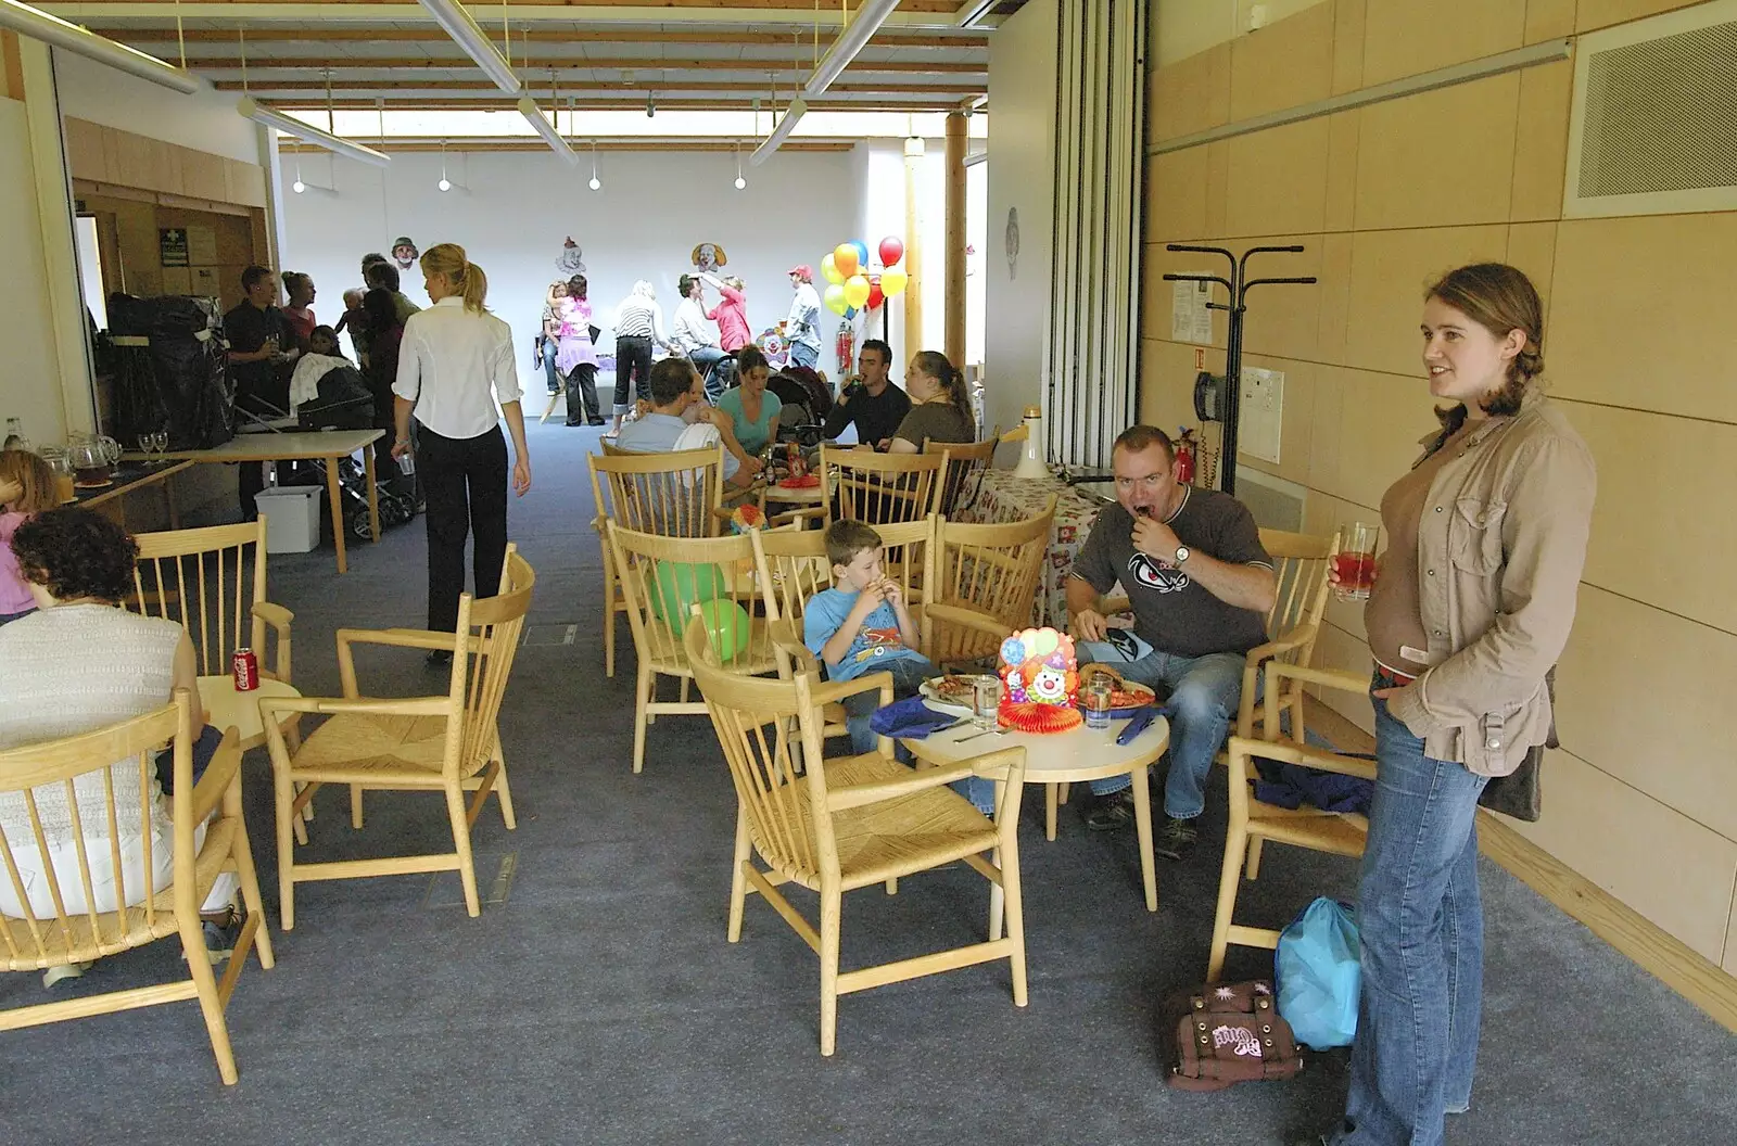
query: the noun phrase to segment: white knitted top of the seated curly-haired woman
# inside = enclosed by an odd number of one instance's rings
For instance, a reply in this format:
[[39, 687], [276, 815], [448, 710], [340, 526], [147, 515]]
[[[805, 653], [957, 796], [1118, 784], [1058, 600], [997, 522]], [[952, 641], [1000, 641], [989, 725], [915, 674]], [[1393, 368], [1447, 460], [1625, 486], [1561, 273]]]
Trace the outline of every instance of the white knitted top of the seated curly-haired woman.
[[[108, 604], [63, 604], [0, 627], [0, 748], [76, 736], [144, 715], [168, 701], [181, 625], [137, 616]], [[115, 816], [123, 837], [141, 828], [141, 802], [168, 827], [156, 780], [139, 788], [137, 757], [109, 767]], [[102, 773], [73, 781], [85, 839], [108, 839]], [[71, 842], [63, 783], [35, 788], [49, 844]], [[17, 792], [0, 792], [0, 830], [14, 847], [33, 842], [30, 813]]]

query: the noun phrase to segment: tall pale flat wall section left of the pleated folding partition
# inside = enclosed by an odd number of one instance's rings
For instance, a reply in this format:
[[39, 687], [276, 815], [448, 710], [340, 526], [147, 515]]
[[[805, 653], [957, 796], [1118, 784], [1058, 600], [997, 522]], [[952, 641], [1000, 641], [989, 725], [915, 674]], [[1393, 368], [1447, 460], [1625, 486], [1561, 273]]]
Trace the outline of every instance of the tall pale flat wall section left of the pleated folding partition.
[[[988, 299], [985, 420], [1020, 424], [1040, 401], [1054, 250], [1056, 0], [1032, 0], [990, 38]], [[1020, 212], [1020, 260], [1007, 271], [1007, 210]]]

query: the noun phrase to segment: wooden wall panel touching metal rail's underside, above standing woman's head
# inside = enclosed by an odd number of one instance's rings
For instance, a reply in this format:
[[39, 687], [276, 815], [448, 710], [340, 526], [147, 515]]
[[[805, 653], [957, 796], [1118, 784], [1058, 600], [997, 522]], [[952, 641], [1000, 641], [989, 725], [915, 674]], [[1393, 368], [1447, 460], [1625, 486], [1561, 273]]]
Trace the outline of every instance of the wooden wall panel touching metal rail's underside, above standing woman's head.
[[1509, 73], [1364, 108], [1357, 227], [1508, 222], [1518, 102]]

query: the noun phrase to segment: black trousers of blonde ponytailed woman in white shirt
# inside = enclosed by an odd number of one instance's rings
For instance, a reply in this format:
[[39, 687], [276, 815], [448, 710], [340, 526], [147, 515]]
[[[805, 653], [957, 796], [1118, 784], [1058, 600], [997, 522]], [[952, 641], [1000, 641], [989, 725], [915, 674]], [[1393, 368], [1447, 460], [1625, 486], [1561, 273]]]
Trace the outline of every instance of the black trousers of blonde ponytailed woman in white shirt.
[[507, 557], [507, 439], [500, 427], [478, 438], [443, 438], [417, 425], [417, 478], [427, 498], [429, 629], [452, 632], [464, 592], [464, 542], [478, 597], [500, 589]]

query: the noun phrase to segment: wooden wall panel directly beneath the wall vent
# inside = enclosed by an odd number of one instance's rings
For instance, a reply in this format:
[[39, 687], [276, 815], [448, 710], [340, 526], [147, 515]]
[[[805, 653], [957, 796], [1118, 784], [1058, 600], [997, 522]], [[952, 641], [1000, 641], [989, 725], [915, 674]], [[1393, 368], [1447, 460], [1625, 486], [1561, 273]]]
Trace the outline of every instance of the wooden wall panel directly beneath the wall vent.
[[1737, 212], [1569, 219], [1546, 363], [1565, 398], [1737, 422]]

